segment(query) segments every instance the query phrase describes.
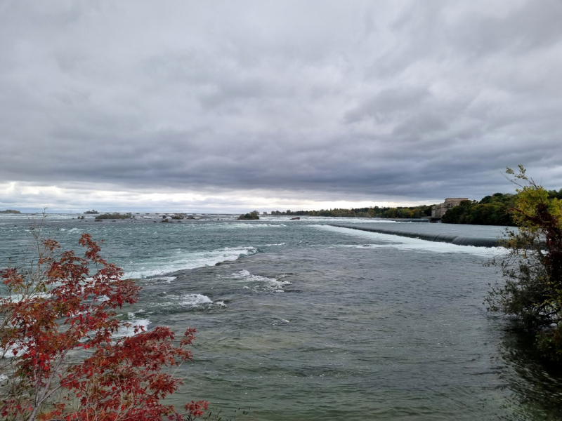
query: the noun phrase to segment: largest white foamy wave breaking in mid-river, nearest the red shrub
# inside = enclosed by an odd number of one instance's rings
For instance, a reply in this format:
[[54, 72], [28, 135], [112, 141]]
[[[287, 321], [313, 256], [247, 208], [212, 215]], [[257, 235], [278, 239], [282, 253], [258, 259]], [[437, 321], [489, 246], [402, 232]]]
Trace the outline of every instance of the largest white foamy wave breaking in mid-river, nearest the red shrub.
[[220, 250], [199, 251], [186, 253], [185, 250], [176, 250], [166, 257], [153, 258], [152, 260], [135, 262], [131, 267], [126, 267], [125, 278], [168, 279], [161, 274], [177, 272], [196, 267], [214, 266], [218, 262], [237, 260], [241, 256], [254, 255], [258, 252], [254, 247], [226, 247]]

